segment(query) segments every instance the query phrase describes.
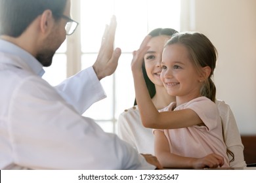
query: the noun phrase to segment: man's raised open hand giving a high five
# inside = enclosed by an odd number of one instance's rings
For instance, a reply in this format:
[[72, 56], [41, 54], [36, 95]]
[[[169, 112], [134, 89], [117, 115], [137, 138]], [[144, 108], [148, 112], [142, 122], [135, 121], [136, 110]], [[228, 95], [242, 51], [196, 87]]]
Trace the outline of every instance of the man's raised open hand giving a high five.
[[116, 16], [112, 16], [110, 25], [106, 25], [98, 57], [93, 64], [93, 69], [99, 80], [112, 75], [116, 71], [118, 59], [121, 55], [120, 48], [114, 50], [116, 24]]

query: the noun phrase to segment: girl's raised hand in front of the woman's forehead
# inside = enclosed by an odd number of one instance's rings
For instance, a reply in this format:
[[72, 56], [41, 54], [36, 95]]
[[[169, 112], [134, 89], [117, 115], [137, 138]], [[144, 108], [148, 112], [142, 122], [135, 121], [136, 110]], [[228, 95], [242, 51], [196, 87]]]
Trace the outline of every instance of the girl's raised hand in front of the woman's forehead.
[[148, 44], [148, 41], [150, 41], [151, 36], [146, 36], [142, 43], [140, 44], [140, 48], [137, 51], [133, 52], [133, 60], [131, 61], [131, 70], [133, 72], [135, 71], [142, 71], [142, 63], [143, 63], [143, 57], [148, 51], [149, 46], [146, 46]]

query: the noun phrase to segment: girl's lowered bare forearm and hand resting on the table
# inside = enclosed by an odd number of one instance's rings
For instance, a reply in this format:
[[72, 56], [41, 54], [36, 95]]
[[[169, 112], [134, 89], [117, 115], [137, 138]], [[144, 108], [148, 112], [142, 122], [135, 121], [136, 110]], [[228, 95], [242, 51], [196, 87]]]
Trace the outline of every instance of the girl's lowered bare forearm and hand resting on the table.
[[194, 168], [221, 167], [224, 164], [223, 157], [217, 154], [209, 154], [203, 158], [189, 158], [172, 154], [169, 150], [169, 143], [163, 131], [154, 131], [155, 154], [160, 164], [165, 168]]

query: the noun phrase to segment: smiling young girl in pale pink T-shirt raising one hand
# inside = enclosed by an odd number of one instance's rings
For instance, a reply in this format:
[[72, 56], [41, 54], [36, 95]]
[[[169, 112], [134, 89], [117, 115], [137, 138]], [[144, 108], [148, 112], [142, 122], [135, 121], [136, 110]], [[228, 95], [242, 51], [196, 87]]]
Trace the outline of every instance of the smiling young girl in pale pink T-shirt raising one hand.
[[215, 47], [200, 33], [177, 33], [167, 42], [161, 80], [169, 95], [176, 96], [176, 103], [159, 112], [148, 95], [141, 70], [150, 39], [146, 37], [133, 53], [131, 67], [142, 124], [156, 128], [155, 153], [160, 163], [177, 168], [229, 167], [221, 118], [213, 102]]

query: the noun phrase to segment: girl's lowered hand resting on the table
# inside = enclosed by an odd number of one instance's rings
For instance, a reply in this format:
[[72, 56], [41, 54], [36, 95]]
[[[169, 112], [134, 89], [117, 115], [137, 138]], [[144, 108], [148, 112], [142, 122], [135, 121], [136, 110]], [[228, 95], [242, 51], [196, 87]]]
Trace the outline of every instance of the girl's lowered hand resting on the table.
[[217, 168], [224, 165], [224, 158], [218, 154], [209, 154], [203, 158], [196, 158], [192, 163], [192, 167], [195, 169], [202, 168]]

